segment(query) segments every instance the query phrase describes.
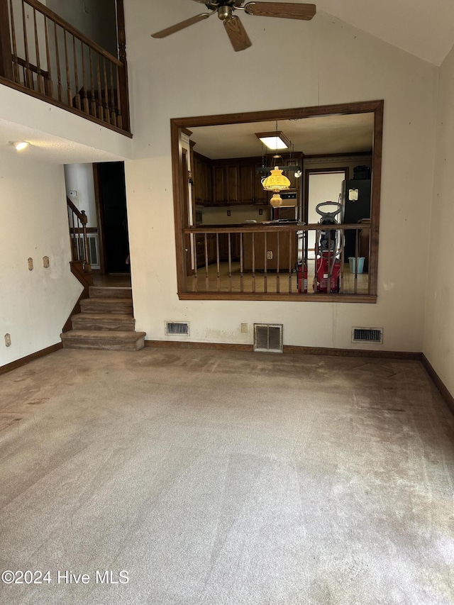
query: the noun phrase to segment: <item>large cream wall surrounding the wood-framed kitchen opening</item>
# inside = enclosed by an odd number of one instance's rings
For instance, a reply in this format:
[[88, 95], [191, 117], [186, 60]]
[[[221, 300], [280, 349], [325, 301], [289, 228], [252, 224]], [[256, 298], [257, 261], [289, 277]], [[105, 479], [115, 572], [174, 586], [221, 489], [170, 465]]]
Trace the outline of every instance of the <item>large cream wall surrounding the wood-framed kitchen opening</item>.
[[[193, 5], [125, 7], [138, 158], [126, 163], [137, 329], [164, 339], [165, 320], [189, 320], [190, 340], [250, 343], [240, 323], [278, 322], [285, 344], [349, 348], [352, 326], [382, 326], [381, 348], [421, 351], [427, 248], [414, 243], [426, 242], [436, 67], [323, 13], [309, 22], [242, 14], [253, 41], [244, 52], [233, 52], [216, 18], [150, 38], [194, 15]], [[372, 99], [385, 102], [377, 304], [179, 301], [170, 118]]]

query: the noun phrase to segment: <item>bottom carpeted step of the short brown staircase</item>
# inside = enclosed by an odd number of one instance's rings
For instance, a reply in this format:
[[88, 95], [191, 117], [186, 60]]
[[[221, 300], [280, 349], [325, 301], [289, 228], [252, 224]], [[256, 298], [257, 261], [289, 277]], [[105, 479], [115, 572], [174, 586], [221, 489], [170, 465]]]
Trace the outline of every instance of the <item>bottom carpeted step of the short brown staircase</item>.
[[145, 345], [145, 332], [71, 330], [60, 336], [67, 349], [138, 351]]

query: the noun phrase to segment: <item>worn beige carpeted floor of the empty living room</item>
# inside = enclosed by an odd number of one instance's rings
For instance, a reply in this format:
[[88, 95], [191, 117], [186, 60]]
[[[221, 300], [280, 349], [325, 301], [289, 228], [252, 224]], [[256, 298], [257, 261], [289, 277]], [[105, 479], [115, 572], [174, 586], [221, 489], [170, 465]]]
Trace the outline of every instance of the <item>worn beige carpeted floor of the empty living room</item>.
[[454, 603], [419, 362], [60, 350], [0, 376], [0, 428], [0, 571], [35, 572], [1, 605]]

